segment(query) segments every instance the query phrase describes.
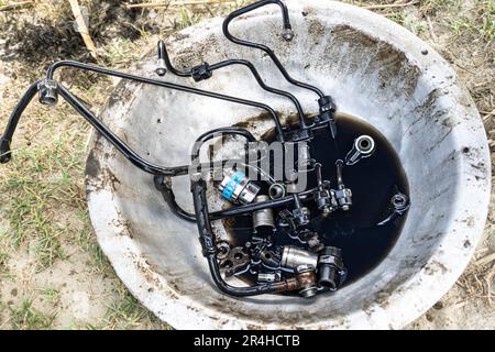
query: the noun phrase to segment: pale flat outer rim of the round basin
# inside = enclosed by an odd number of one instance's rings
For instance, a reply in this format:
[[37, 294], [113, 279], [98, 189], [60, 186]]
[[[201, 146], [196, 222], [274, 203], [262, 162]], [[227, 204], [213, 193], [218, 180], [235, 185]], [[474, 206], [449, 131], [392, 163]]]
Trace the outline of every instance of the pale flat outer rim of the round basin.
[[[400, 42], [407, 42], [407, 54], [414, 56], [414, 59], [427, 63], [428, 67], [438, 67], [439, 72], [443, 72], [449, 66], [432, 47], [425, 44], [404, 28], [373, 12], [343, 3], [329, 3], [324, 1], [306, 0], [299, 1], [298, 6], [295, 6], [294, 2], [288, 2], [288, 6], [292, 11], [297, 11], [304, 7], [311, 7], [319, 11], [320, 14], [327, 14], [333, 11], [346, 12], [350, 16], [360, 18], [363, 23], [374, 23], [375, 28], [381, 30], [381, 35], [392, 43], [397, 44], [399, 48], [402, 48]], [[256, 15], [262, 14], [256, 13]], [[204, 22], [182, 33], [194, 34], [196, 31], [208, 31], [212, 23], [218, 25], [219, 20]], [[359, 26], [360, 24], [354, 23], [354, 25]], [[429, 53], [427, 57], [421, 54], [425, 50]], [[462, 127], [459, 127], [457, 142], [463, 147], [483, 150], [477, 155], [477, 160], [485, 163], [485, 165], [491, 165], [484, 128], [474, 108], [472, 98], [469, 96], [466, 89], [458, 81], [452, 86], [446, 87], [446, 89], [459, 100], [463, 99], [463, 101], [469, 102], [465, 109], [469, 119], [465, 119]], [[90, 155], [89, 160], [91, 157], [94, 156]], [[105, 162], [105, 157], [100, 157], [100, 164], [102, 162]], [[396, 297], [395, 294], [392, 294], [387, 297], [388, 306], [386, 311], [372, 305], [367, 310], [369, 319], [366, 321], [358, 323], [356, 320], [356, 323], [353, 323], [353, 318], [349, 317], [348, 324], [345, 326], [329, 319], [328, 321], [320, 321], [317, 324], [302, 326], [304, 328], [402, 328], [428, 310], [449, 290], [462, 274], [474, 253], [474, 244], [477, 243], [482, 235], [490, 204], [491, 177], [476, 179], [472, 177], [470, 161], [463, 158], [461, 163], [462, 169], [458, 177], [465, 187], [458, 190], [457, 200], [463, 207], [459, 207], [452, 217], [454, 219], [473, 219], [473, 223], [457, 226], [457, 231], [463, 231], [464, 238], [473, 245], [463, 248], [459, 243], [452, 243], [443, 239], [439, 248], [435, 250], [435, 254], [425, 265], [425, 270], [428, 270], [429, 265], [436, 265], [436, 263], [441, 262], [448, 255], [457, 256], [457, 266], [447, 271], [441, 282], [428, 282], [428, 278], [425, 279], [425, 276], [422, 276], [424, 282], [421, 285], [418, 285], [418, 283], [414, 282], [418, 277], [413, 278], [405, 285], [404, 289], [406, 290], [400, 296]], [[490, 166], [486, 166], [485, 173], [490, 175]], [[177, 299], [177, 293], [167, 286], [167, 283], [153, 271], [145, 260], [139, 256], [140, 249], [136, 248], [132, 239], [130, 237], [116, 235], [116, 233], [121, 234], [125, 229], [121, 224], [112, 222], [113, 219], [118, 218], [119, 212], [117, 205], [112, 200], [111, 191], [106, 185], [102, 185], [102, 188], [98, 190], [88, 190], [90, 217], [98, 237], [98, 242], [125, 286], [144, 306], [161, 319], [177, 329], [294, 328], [293, 326], [261, 324], [256, 321], [255, 317], [245, 319], [231, 318], [228, 315], [218, 314], [213, 308], [198, 305], [196, 301], [187, 299], [187, 297]], [[105, 217], [101, 216], [103, 213], [101, 211], [102, 205], [107, 205]], [[156, 287], [160, 287], [160, 292]], [[428, 297], [420, 297], [420, 294], [426, 289], [431, 289], [435, 294]]]

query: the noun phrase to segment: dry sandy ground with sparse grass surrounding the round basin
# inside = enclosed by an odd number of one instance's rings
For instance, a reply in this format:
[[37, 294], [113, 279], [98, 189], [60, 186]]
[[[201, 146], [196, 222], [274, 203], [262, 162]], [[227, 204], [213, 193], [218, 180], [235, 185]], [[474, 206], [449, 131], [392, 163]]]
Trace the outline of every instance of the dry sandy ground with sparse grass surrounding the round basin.
[[[197, 1], [197, 0], [196, 0]], [[2, 6], [15, 1], [0, 0]], [[80, 0], [99, 63], [125, 69], [156, 37], [201, 19], [223, 15], [242, 1], [170, 1], [168, 8], [128, 10], [142, 1]], [[167, 2], [167, 1], [155, 1]], [[495, 3], [493, 0], [346, 1], [406, 26], [436, 47], [470, 89], [495, 136]], [[393, 4], [393, 7], [388, 7]], [[0, 12], [0, 128], [23, 89], [62, 58], [91, 61], [75, 31], [68, 1], [35, 1]], [[94, 110], [111, 81], [62, 77]], [[0, 329], [167, 329], [117, 278], [88, 220], [84, 164], [90, 129], [66, 105], [32, 103], [0, 172]], [[491, 144], [495, 146], [495, 142]], [[494, 154], [495, 155], [495, 154]], [[495, 213], [457, 285], [409, 329], [495, 329]], [[492, 258], [490, 261], [490, 258]]]

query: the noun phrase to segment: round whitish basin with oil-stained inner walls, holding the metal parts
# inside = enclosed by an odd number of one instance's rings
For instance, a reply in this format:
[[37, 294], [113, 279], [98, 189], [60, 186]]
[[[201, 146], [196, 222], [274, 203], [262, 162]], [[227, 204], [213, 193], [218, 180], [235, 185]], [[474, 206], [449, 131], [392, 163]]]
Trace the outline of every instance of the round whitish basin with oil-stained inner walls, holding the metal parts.
[[[178, 329], [397, 329], [430, 308], [465, 268], [487, 215], [491, 162], [483, 124], [454, 70], [404, 28], [372, 12], [328, 1], [288, 1], [296, 33], [280, 37], [276, 7], [232, 23], [232, 32], [273, 47], [289, 73], [331, 94], [339, 111], [378, 129], [400, 157], [411, 207], [388, 255], [366, 276], [314, 300], [285, 296], [239, 299], [212, 284], [195, 224], [174, 217], [152, 176], [96, 138], [87, 191], [98, 241], [117, 274], [150, 310]], [[178, 67], [248, 58], [266, 81], [292, 90], [308, 112], [315, 96], [287, 86], [261, 52], [228, 42], [222, 19], [167, 40]], [[135, 67], [154, 76], [155, 56]], [[293, 106], [261, 90], [244, 68], [195, 84], [261, 100], [284, 114]], [[121, 81], [102, 119], [136, 152], [163, 165], [189, 162], [194, 140], [261, 111], [167, 89]], [[272, 128], [260, 121], [255, 135]], [[179, 204], [191, 209], [188, 177], [175, 179]]]

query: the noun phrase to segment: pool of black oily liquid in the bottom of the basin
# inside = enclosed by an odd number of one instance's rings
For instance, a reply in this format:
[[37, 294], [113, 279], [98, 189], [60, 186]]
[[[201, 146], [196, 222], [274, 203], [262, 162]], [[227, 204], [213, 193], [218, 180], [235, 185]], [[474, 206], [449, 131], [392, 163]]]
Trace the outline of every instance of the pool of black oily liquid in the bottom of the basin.
[[[287, 118], [288, 121], [294, 119]], [[376, 267], [389, 253], [400, 235], [406, 215], [394, 221], [377, 226], [392, 213], [391, 198], [400, 191], [409, 198], [409, 187], [399, 157], [391, 143], [374, 127], [349, 114], [339, 113], [337, 145], [328, 132], [315, 135], [310, 142], [311, 156], [322, 165], [323, 179], [331, 182], [337, 188], [336, 161], [344, 158], [354, 140], [366, 134], [375, 141], [375, 152], [352, 166], [343, 169], [343, 183], [352, 190], [353, 205], [350, 210], [337, 210], [328, 218], [322, 218], [316, 207], [310, 206], [311, 230], [318, 232], [326, 245], [342, 250], [343, 261], [348, 268], [344, 285], [365, 276]], [[255, 119], [250, 119], [255, 121]], [[264, 133], [267, 142], [273, 141], [273, 131]], [[308, 177], [308, 188], [316, 186], [314, 174]], [[243, 245], [251, 240], [251, 217], [238, 217], [223, 221], [232, 245]], [[284, 233], [274, 233], [275, 246], [298, 245], [301, 243]], [[249, 272], [240, 278], [253, 283], [254, 276]]]

